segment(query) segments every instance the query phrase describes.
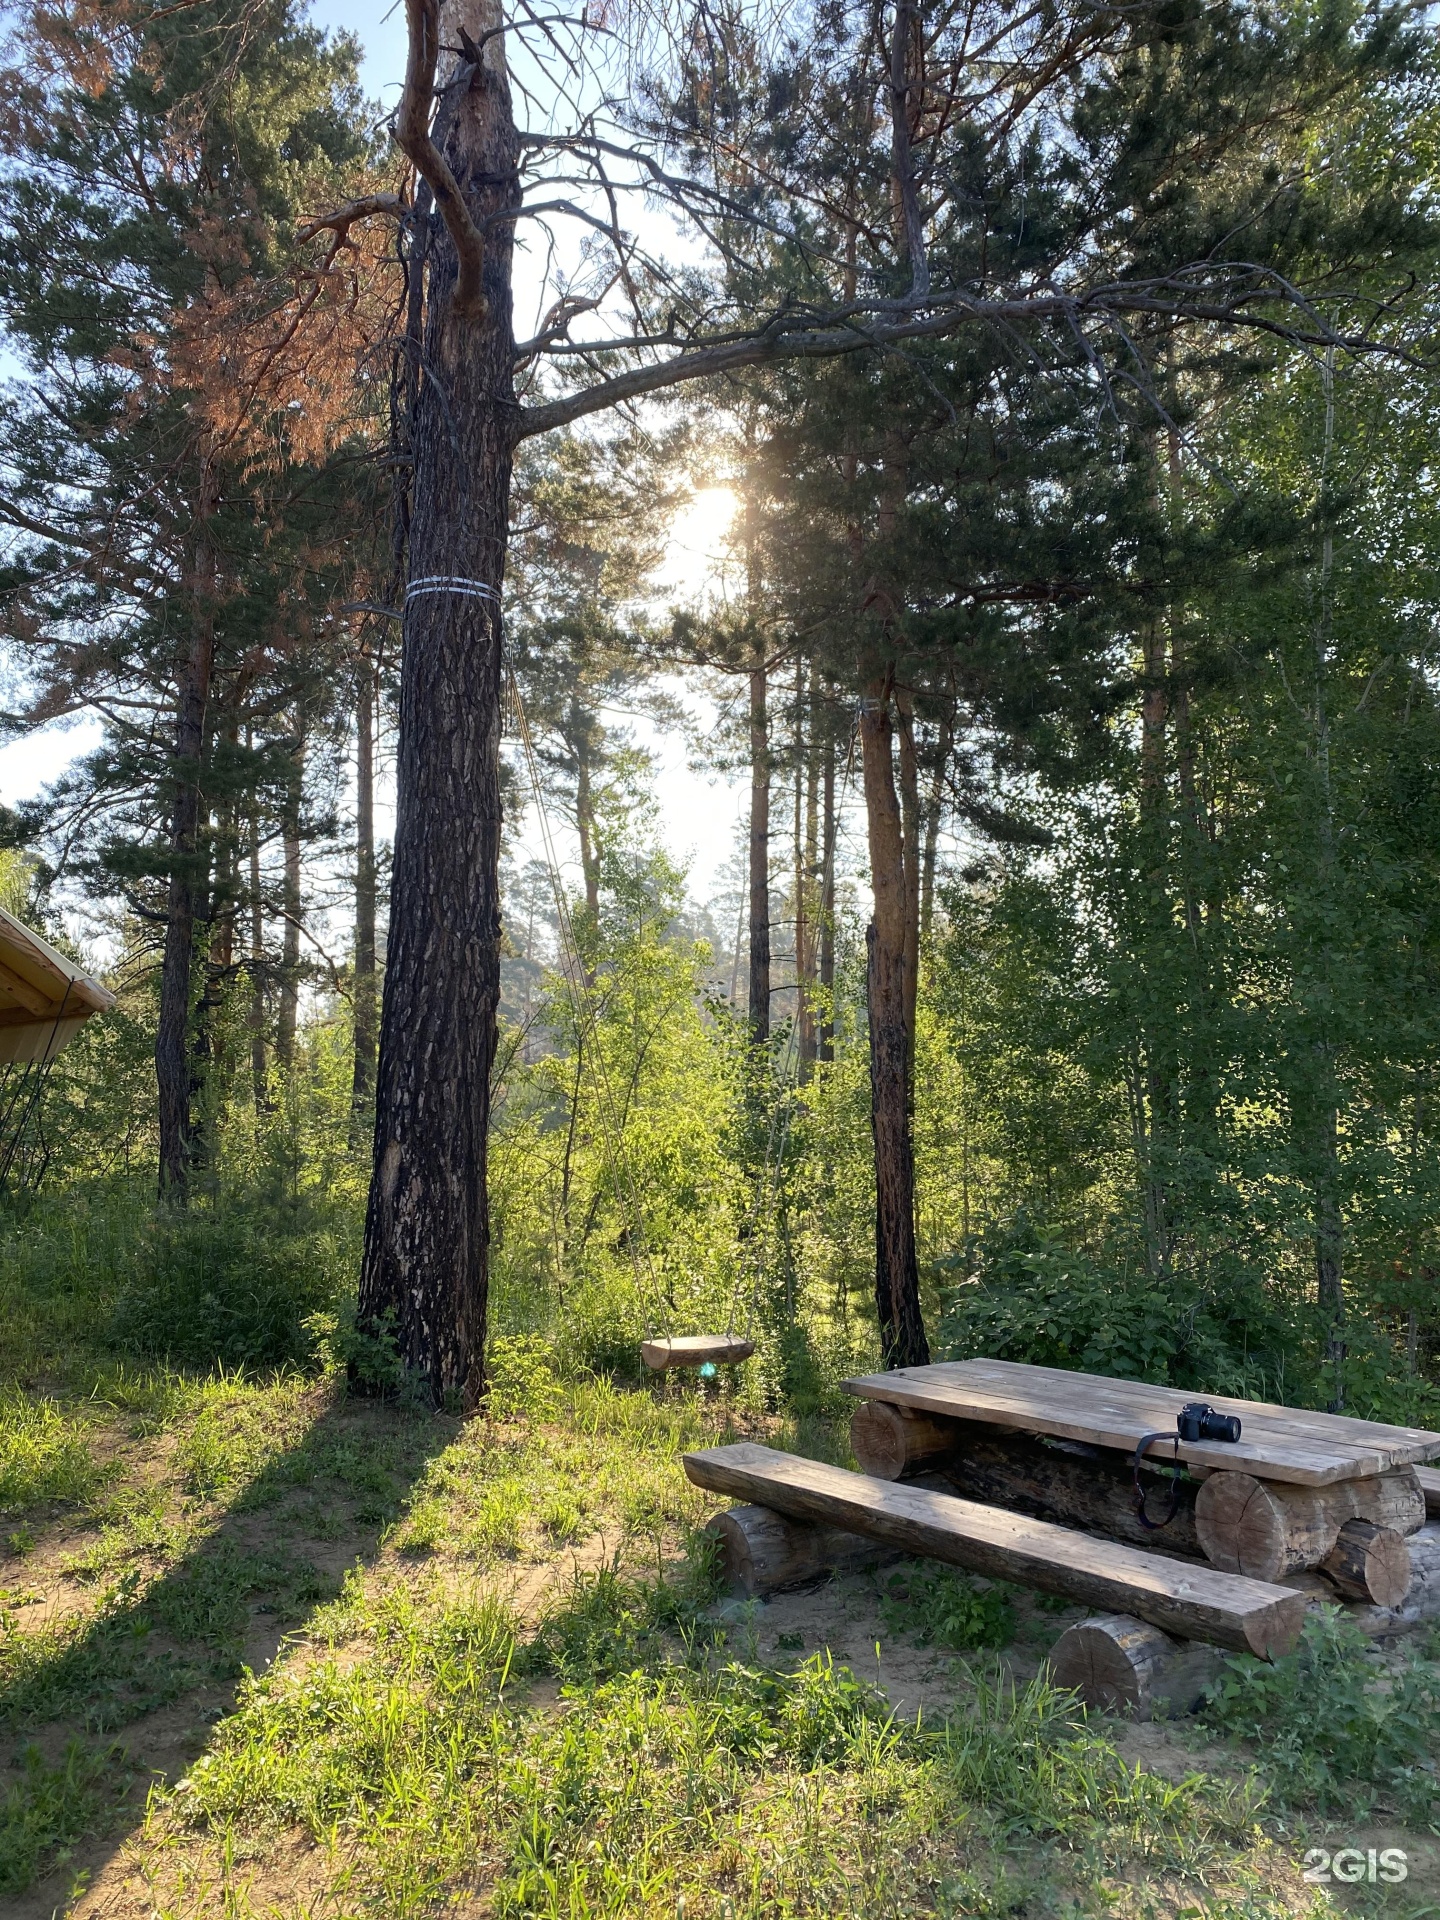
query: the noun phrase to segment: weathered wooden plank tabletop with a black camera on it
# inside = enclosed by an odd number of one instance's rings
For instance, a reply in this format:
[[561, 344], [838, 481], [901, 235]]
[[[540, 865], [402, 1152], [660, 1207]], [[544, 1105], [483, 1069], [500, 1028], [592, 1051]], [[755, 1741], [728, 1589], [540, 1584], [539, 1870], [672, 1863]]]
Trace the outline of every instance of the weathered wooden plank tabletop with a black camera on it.
[[[860, 1400], [887, 1400], [929, 1415], [1023, 1427], [1125, 1452], [1146, 1432], [1171, 1432], [1187, 1400], [1204, 1398], [1140, 1380], [998, 1359], [897, 1367], [847, 1380], [845, 1388]], [[1417, 1427], [1382, 1427], [1221, 1396], [1213, 1396], [1212, 1405], [1240, 1415], [1240, 1440], [1181, 1442], [1179, 1455], [1190, 1465], [1325, 1486], [1440, 1455], [1440, 1434]]]

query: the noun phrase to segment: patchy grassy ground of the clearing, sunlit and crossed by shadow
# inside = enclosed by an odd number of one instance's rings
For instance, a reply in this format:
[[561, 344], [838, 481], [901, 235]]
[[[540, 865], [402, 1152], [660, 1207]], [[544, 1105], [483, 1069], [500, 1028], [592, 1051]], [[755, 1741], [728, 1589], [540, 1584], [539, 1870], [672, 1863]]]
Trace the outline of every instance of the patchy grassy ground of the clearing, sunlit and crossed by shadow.
[[[843, 1457], [824, 1423], [540, 1367], [470, 1423], [338, 1379], [12, 1380], [13, 1920], [1440, 1912], [1432, 1834], [1281, 1814], [1196, 1722], [1077, 1715], [1037, 1596], [979, 1590], [1010, 1640], [964, 1655], [924, 1644], [924, 1571], [716, 1596], [680, 1452]], [[1409, 1878], [1308, 1885], [1311, 1845]]]

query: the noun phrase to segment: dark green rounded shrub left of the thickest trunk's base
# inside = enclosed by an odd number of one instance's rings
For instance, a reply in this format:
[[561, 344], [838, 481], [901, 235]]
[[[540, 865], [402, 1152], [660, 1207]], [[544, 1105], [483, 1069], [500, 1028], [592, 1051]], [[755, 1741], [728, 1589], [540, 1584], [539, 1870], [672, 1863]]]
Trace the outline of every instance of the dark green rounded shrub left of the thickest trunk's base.
[[348, 1279], [342, 1236], [305, 1210], [259, 1202], [157, 1219], [138, 1246], [111, 1338], [180, 1365], [313, 1367], [315, 1315]]

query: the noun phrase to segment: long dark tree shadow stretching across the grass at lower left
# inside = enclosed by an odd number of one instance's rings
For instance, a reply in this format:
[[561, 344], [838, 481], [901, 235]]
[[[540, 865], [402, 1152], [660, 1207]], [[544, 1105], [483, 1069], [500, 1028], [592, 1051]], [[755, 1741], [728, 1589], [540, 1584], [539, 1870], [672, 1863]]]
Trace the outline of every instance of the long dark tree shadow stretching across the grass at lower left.
[[38, 1634], [8, 1626], [0, 1907], [12, 1920], [63, 1914], [104, 1874], [150, 1786], [184, 1774], [244, 1674], [263, 1672], [349, 1569], [374, 1561], [415, 1480], [459, 1430], [336, 1390], [294, 1446], [209, 1507], [157, 1578], [132, 1567], [98, 1611]]

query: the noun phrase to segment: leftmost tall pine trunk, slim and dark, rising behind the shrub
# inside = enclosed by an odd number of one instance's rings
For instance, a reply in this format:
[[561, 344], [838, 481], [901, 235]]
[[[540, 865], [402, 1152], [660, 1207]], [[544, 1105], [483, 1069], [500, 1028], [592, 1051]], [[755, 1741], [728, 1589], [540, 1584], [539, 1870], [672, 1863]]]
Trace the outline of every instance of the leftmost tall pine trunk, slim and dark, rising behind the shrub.
[[190, 979], [196, 958], [200, 872], [200, 778], [205, 756], [205, 710], [215, 672], [217, 561], [211, 520], [219, 488], [202, 461], [192, 553], [190, 647], [179, 670], [175, 756], [171, 762], [171, 877], [165, 900], [165, 952], [159, 970], [156, 1089], [159, 1092], [159, 1190], [184, 1200], [190, 1181]]

